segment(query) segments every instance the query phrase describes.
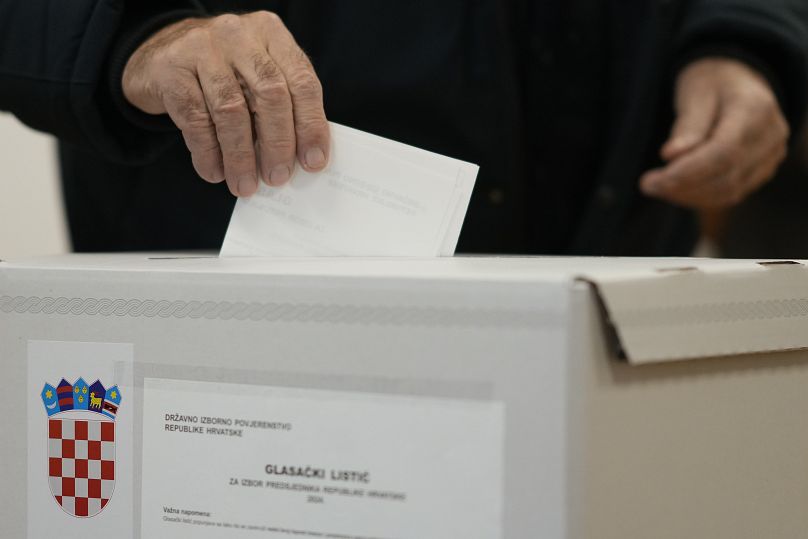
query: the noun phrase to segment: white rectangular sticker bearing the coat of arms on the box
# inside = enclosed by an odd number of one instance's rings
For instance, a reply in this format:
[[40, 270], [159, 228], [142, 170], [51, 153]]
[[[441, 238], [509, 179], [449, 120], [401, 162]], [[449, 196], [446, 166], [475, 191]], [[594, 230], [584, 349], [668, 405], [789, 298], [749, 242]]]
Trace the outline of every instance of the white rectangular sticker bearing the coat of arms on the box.
[[29, 538], [132, 538], [133, 360], [131, 344], [29, 341]]

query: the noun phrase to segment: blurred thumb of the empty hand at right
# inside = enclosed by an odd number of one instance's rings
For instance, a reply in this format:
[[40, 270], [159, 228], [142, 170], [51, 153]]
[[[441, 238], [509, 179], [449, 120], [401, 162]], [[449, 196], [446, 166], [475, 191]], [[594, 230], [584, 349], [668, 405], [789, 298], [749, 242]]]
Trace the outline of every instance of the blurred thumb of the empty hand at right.
[[676, 121], [661, 152], [665, 161], [673, 161], [707, 140], [718, 117], [718, 94], [704, 85], [681, 84], [676, 105]]

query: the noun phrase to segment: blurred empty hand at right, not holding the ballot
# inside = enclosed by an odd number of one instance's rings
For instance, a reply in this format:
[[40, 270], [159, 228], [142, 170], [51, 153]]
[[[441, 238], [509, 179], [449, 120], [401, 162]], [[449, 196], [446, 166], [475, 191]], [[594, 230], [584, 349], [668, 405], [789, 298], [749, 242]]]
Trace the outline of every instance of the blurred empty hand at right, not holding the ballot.
[[709, 58], [679, 76], [678, 118], [662, 148], [667, 166], [646, 173], [649, 196], [695, 209], [742, 201], [786, 157], [789, 127], [766, 80], [745, 64]]

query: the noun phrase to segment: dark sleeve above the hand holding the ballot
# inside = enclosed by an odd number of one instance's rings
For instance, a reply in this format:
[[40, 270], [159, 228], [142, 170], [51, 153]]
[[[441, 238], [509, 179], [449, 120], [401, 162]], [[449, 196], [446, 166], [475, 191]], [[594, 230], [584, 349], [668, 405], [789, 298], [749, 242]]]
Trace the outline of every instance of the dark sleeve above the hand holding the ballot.
[[198, 3], [123, 0], [0, 0], [0, 110], [28, 126], [104, 156], [152, 159], [168, 135], [136, 128], [110, 90], [110, 52], [133, 29]]

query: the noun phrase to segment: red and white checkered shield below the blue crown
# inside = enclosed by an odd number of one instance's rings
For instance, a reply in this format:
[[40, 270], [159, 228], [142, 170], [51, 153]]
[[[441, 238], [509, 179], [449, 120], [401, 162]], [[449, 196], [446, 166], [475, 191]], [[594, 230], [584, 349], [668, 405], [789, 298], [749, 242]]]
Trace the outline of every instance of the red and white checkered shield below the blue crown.
[[67, 514], [103, 511], [115, 489], [115, 422], [48, 419], [48, 483]]

